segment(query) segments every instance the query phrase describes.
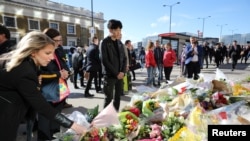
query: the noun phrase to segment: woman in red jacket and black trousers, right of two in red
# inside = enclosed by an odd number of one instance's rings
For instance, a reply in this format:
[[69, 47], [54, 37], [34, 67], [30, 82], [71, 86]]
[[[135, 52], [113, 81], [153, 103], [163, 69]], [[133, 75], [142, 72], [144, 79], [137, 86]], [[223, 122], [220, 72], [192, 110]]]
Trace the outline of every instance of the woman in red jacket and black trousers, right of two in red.
[[176, 53], [172, 49], [171, 43], [167, 43], [165, 45], [165, 52], [163, 55], [163, 66], [164, 66], [164, 74], [165, 78], [168, 82], [170, 80], [170, 74], [173, 70], [174, 62], [176, 61]]

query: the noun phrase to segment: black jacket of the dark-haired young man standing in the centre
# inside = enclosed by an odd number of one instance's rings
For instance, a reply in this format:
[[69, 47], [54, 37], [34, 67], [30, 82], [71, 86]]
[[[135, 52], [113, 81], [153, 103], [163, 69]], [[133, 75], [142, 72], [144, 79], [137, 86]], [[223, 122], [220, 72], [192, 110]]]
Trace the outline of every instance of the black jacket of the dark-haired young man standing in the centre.
[[[117, 49], [115, 48], [114, 42], [117, 44]], [[112, 41], [111, 37], [103, 39], [101, 45], [101, 61], [104, 76], [117, 78], [119, 72], [125, 73], [127, 60], [121, 41]]]

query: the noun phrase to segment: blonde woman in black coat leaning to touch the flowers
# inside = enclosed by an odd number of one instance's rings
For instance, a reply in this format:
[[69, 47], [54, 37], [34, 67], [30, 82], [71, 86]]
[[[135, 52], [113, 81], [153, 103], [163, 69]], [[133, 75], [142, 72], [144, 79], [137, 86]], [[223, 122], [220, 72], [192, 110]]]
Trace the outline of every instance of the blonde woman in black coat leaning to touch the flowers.
[[17, 48], [0, 58], [0, 139], [15, 141], [19, 124], [29, 109], [49, 121], [71, 128], [77, 134], [87, 131], [51, 107], [40, 92], [39, 67], [54, 59], [55, 43], [39, 31], [26, 34]]

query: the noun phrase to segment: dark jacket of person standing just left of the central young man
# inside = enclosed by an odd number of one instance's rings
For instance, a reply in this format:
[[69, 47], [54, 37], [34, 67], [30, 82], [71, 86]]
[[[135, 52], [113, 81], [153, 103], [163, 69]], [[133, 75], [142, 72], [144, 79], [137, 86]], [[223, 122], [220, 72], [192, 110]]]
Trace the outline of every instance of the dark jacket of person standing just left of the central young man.
[[101, 69], [100, 51], [98, 46], [91, 44], [86, 52], [86, 71], [97, 72]]

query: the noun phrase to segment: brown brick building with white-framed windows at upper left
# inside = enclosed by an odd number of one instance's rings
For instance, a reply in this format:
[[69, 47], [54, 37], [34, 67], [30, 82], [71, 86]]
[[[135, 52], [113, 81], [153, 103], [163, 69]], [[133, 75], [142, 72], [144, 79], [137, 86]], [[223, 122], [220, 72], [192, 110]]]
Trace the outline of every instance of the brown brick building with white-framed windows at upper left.
[[49, 0], [0, 1], [0, 24], [10, 30], [13, 43], [30, 31], [51, 27], [60, 31], [64, 46], [85, 46], [91, 36], [104, 38], [103, 17], [103, 13], [92, 17], [87, 9]]

